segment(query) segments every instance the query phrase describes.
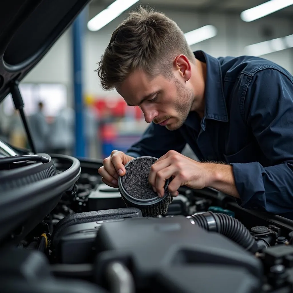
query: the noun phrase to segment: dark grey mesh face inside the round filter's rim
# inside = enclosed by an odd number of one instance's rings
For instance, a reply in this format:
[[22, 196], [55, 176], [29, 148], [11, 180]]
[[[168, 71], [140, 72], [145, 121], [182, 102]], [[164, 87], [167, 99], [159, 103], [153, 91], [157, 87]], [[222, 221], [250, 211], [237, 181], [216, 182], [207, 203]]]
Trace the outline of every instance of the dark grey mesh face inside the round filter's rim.
[[[154, 192], [148, 181], [151, 165], [154, 164], [156, 160], [157, 159], [151, 157], [142, 157], [130, 161], [127, 166], [125, 166], [126, 173], [121, 178], [121, 183], [128, 194], [141, 200], [158, 197], [158, 194]], [[167, 181], [164, 185], [164, 189], [166, 185]]]

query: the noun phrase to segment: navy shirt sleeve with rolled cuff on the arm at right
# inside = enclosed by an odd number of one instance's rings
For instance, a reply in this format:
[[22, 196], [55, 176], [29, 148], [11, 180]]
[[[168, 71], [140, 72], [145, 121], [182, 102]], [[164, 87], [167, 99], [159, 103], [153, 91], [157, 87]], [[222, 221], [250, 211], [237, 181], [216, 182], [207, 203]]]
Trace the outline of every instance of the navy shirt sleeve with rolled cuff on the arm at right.
[[277, 69], [251, 77], [243, 113], [270, 166], [231, 163], [240, 204], [274, 214], [293, 211], [293, 81]]

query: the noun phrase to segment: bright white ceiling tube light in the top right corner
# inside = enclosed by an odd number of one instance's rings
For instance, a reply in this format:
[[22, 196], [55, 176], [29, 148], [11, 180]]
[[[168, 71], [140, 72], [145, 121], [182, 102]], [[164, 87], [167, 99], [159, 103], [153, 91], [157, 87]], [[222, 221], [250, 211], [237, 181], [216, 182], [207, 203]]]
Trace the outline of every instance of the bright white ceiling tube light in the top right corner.
[[293, 0], [270, 0], [248, 10], [242, 11], [240, 18], [243, 21], [254, 21], [293, 4]]

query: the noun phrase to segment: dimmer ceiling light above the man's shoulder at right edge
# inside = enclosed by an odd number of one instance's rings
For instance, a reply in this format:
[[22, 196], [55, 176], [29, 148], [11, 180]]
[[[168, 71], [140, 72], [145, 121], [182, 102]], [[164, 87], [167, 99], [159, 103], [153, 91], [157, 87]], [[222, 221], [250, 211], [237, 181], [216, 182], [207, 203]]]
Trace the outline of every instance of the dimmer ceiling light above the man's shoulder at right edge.
[[287, 48], [293, 48], [293, 35], [249, 45], [244, 50], [248, 55], [261, 56]]

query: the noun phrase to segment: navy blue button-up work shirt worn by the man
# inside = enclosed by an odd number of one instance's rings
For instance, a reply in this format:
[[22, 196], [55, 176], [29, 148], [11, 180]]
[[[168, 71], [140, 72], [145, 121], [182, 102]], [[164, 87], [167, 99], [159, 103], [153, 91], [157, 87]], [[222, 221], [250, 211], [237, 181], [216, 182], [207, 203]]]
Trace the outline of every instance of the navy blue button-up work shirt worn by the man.
[[153, 122], [127, 154], [161, 157], [188, 143], [200, 161], [233, 166], [237, 202], [293, 218], [293, 77], [259, 57], [219, 57], [206, 62], [205, 114], [190, 112], [178, 130]]

